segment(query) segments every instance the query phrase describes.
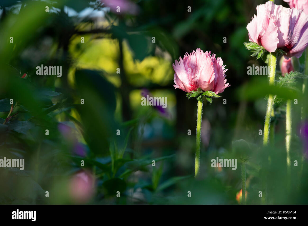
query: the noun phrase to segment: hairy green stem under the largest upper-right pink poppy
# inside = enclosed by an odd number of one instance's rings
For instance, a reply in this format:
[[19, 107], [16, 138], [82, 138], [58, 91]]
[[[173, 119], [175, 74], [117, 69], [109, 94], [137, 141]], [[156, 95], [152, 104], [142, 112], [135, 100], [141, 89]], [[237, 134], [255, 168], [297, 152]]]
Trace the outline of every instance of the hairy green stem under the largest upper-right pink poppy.
[[[275, 83], [275, 74], [276, 74], [276, 54], [273, 52], [270, 54], [270, 85], [274, 85]], [[270, 117], [272, 114], [274, 105], [274, 96], [272, 94], [269, 95], [269, 99], [267, 101], [267, 108], [265, 114], [264, 121], [264, 135], [263, 135], [263, 145], [266, 146], [269, 141], [270, 134]]]

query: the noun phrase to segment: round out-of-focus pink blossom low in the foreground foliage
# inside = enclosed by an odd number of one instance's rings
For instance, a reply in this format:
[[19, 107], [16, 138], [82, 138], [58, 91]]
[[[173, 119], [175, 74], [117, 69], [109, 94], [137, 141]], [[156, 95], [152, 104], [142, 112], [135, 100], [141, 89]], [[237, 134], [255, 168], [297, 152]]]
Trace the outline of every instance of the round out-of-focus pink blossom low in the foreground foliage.
[[76, 203], [86, 203], [94, 195], [94, 177], [90, 172], [79, 171], [70, 180], [69, 192]]

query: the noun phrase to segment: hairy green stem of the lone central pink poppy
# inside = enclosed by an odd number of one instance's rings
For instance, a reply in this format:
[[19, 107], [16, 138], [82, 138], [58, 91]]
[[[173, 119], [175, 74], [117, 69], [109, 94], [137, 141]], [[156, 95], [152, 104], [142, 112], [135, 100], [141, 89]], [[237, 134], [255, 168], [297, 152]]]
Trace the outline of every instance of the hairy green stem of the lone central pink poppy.
[[203, 106], [203, 99], [202, 98], [200, 99], [198, 100], [198, 109], [197, 109], [195, 177], [197, 177], [199, 173], [199, 166], [200, 166], [201, 122], [202, 122], [202, 106]]

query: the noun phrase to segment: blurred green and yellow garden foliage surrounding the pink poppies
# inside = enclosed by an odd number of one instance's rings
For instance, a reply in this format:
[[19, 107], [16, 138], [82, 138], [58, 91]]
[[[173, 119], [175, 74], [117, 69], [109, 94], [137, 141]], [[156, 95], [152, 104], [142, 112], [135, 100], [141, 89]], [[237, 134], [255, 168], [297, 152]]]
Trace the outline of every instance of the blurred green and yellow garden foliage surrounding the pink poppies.
[[[26, 166], [0, 168], [0, 203], [80, 203], [71, 195], [78, 190], [70, 187], [71, 178], [87, 170], [95, 192], [81, 203], [236, 204], [240, 164], [237, 170], [210, 167], [218, 156], [245, 160], [247, 204], [306, 204], [308, 168], [298, 129], [301, 106], [307, 108], [302, 79], [291, 89], [247, 75], [252, 64], [266, 66], [243, 44], [245, 27], [264, 2], [141, 0], [140, 13], [132, 16], [109, 12], [98, 1], [1, 1], [0, 158], [24, 158]], [[172, 69], [174, 60], [196, 48], [224, 60], [231, 84], [213, 104], [204, 104], [198, 179], [193, 178], [197, 103], [174, 89]], [[61, 66], [62, 76], [37, 75], [42, 64]], [[167, 97], [165, 111], [142, 106], [144, 90]], [[275, 136], [263, 148], [259, 129], [268, 94], [281, 101], [272, 122]], [[299, 103], [292, 105], [290, 153], [298, 166], [289, 177], [288, 98]], [[14, 116], [3, 125], [10, 99]]]

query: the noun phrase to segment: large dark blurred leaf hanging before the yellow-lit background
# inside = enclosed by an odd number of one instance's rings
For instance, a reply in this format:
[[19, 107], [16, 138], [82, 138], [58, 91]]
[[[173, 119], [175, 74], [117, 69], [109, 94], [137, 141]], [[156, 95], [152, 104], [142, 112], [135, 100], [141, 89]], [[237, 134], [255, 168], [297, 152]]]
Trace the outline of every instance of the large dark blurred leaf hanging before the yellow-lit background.
[[[114, 128], [120, 128], [114, 120], [116, 106], [114, 86], [98, 71], [77, 70], [76, 87], [84, 105], [76, 105], [83, 124], [83, 137], [91, 153], [107, 155]], [[80, 99], [79, 99], [80, 100]]]

